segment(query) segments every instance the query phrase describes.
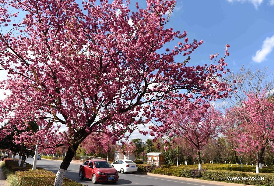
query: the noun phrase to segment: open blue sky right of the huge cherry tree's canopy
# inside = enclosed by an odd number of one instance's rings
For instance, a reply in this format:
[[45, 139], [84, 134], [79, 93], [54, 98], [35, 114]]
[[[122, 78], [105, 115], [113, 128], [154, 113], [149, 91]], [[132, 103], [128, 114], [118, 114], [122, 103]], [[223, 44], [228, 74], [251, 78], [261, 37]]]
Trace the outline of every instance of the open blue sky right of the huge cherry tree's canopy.
[[223, 57], [225, 45], [230, 44], [226, 62], [231, 70], [237, 72], [242, 65], [274, 70], [273, 0], [272, 4], [269, 0], [177, 0], [167, 26], [186, 30], [189, 40], [204, 41], [190, 55], [191, 65], [209, 63], [209, 55], [216, 52]]

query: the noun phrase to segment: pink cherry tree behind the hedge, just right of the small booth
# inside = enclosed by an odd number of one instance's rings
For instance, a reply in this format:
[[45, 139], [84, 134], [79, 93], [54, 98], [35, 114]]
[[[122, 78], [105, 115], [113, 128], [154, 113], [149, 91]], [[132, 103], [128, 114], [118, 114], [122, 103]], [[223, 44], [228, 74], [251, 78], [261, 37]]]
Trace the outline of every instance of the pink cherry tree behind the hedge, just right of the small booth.
[[[179, 113], [179, 114], [177, 114]], [[193, 145], [198, 151], [198, 168], [202, 167], [201, 150], [210, 138], [220, 133], [222, 115], [213, 108], [181, 113], [170, 113], [163, 123], [168, 125], [168, 135], [178, 135]]]

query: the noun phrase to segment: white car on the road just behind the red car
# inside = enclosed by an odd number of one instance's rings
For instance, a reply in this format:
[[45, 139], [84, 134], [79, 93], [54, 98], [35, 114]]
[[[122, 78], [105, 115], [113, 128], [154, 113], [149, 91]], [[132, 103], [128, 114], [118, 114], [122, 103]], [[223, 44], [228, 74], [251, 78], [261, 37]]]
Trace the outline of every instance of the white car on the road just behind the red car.
[[121, 172], [121, 173], [125, 173], [125, 172], [135, 173], [135, 172], [137, 172], [137, 169], [138, 169], [138, 166], [136, 163], [134, 163], [131, 160], [127, 160], [127, 159], [118, 159], [118, 160], [114, 161], [113, 163], [111, 163], [111, 165], [118, 172]]

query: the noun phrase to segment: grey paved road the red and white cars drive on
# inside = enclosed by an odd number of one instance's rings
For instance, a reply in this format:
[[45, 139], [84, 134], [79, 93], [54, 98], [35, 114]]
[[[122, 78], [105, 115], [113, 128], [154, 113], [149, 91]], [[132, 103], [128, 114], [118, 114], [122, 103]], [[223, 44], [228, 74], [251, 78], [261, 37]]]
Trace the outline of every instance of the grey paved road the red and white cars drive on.
[[[17, 157], [16, 157], [17, 158]], [[33, 159], [27, 159], [27, 163], [32, 164]], [[42, 167], [46, 170], [50, 170], [54, 173], [58, 171], [61, 161], [52, 161], [41, 159], [37, 160], [37, 166]], [[90, 179], [84, 178], [80, 180], [79, 174], [79, 164], [70, 163], [68, 170], [66, 171], [66, 177], [77, 181], [84, 185], [93, 185]], [[131, 173], [119, 173], [119, 181], [117, 183], [109, 184], [97, 184], [97, 185], [135, 185], [135, 186], [216, 186], [214, 184], [204, 184], [192, 181], [181, 181], [176, 179], [168, 179], [164, 177], [148, 176], [144, 174], [131, 174]], [[220, 182], [219, 185], [222, 185]]]

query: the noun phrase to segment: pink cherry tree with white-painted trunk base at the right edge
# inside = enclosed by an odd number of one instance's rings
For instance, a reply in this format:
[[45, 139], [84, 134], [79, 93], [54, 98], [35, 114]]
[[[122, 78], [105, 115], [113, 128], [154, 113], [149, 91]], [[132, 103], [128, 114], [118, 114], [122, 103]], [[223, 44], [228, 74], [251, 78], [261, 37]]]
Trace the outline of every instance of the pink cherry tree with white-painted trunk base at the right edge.
[[[256, 173], [265, 148], [274, 141], [274, 102], [265, 94], [248, 94], [242, 107], [235, 107], [227, 111], [229, 120], [233, 120], [238, 131], [228, 131], [235, 136], [238, 144], [236, 150], [240, 153], [253, 152], [256, 159]], [[270, 149], [273, 152], [273, 148]]]

